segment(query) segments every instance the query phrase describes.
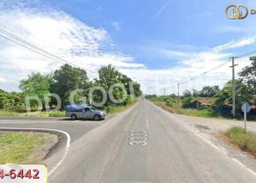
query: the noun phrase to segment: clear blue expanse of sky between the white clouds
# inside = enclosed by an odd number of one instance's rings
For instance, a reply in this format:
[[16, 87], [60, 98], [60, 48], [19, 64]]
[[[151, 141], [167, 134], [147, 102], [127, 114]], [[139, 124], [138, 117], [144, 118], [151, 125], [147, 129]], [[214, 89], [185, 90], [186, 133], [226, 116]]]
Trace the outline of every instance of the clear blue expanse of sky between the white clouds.
[[[231, 1], [48, 2], [90, 26], [105, 28], [122, 51], [149, 68], [170, 67], [177, 59], [170, 60], [152, 53], [154, 47], [175, 50], [179, 45], [177, 51], [204, 51], [237, 36], [246, 36], [247, 33], [241, 35], [236, 31], [227, 33], [223, 28], [243, 27], [253, 18], [242, 21], [227, 19], [225, 7]], [[118, 26], [117, 29], [113, 23]]]

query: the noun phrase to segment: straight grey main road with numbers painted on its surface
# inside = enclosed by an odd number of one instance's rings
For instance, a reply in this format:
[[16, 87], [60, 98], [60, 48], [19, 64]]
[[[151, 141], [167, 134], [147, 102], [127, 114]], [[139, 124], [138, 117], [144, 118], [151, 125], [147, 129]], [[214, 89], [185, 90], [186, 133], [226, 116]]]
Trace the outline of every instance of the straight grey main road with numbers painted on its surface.
[[[61, 155], [45, 161], [50, 170]], [[73, 141], [49, 182], [256, 182], [256, 174], [143, 100]]]

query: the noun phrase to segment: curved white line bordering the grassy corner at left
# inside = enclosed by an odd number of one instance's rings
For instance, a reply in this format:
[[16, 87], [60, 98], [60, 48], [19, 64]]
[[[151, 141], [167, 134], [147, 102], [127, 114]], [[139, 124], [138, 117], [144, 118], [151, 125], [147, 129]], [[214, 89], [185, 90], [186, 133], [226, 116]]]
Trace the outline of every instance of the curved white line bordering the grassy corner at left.
[[71, 139], [70, 135], [67, 132], [59, 131], [59, 130], [55, 130], [55, 129], [40, 129], [40, 128], [12, 128], [12, 127], [9, 128], [9, 127], [0, 127], [0, 130], [1, 129], [55, 131], [55, 132], [61, 132], [61, 133], [65, 134], [67, 136], [67, 144], [66, 144], [65, 154], [63, 155], [61, 160], [57, 163], [57, 165], [48, 173], [48, 177], [50, 177], [50, 175], [61, 165], [61, 163], [63, 163], [65, 157], [67, 157], [68, 150], [69, 150], [69, 147], [70, 147], [70, 139]]

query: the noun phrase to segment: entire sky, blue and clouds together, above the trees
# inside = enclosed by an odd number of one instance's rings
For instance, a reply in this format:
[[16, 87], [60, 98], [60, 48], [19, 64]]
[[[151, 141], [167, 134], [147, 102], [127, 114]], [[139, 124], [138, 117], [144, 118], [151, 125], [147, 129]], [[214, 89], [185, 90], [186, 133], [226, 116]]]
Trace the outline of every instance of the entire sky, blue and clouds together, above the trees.
[[[255, 50], [256, 15], [230, 20], [229, 4], [241, 1], [47, 0], [0, 1], [0, 29], [88, 71], [112, 64], [141, 84], [143, 93], [163, 95], [232, 78], [228, 62]], [[248, 9], [256, 3], [243, 1]], [[49, 74], [61, 63], [21, 47], [0, 32], [0, 88], [19, 92], [32, 72]], [[220, 67], [193, 81], [212, 68]], [[237, 59], [236, 74], [248, 58]]]

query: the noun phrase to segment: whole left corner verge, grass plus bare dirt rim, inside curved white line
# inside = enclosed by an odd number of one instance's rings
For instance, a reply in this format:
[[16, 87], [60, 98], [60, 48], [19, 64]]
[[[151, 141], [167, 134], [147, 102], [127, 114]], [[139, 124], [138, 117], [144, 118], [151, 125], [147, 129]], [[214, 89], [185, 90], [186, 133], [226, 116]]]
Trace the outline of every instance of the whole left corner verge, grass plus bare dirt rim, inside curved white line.
[[0, 164], [38, 163], [58, 142], [58, 136], [45, 132], [0, 131]]

